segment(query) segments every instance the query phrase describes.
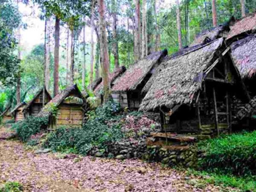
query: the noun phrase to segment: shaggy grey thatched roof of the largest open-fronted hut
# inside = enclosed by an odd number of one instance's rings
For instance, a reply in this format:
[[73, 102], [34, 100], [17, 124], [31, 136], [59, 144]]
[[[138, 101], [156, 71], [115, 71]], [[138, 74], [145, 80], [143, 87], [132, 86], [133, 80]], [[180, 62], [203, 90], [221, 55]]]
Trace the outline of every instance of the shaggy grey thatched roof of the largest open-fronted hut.
[[166, 106], [191, 104], [195, 93], [201, 89], [204, 72], [212, 64], [215, 53], [224, 40], [219, 38], [184, 55], [169, 58], [161, 70], [151, 78], [153, 84], [140, 105], [140, 110], [150, 111]]

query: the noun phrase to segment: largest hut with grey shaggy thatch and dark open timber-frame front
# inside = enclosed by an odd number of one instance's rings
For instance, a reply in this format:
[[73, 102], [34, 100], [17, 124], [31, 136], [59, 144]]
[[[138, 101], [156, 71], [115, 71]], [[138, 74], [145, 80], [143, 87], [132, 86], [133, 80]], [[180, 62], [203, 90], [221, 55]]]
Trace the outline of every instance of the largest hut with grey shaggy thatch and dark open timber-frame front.
[[231, 131], [232, 96], [249, 100], [223, 38], [166, 58], [148, 84], [140, 110], [160, 111], [164, 130], [177, 133]]

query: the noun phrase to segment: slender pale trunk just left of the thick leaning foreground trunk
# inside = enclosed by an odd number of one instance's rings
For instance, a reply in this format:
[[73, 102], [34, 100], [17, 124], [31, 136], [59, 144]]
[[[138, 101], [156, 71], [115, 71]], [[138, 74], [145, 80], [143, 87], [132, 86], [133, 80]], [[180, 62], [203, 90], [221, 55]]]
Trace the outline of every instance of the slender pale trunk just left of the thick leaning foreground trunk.
[[[94, 55], [93, 55], [93, 49], [94, 49], [94, 42], [93, 42], [93, 30], [94, 30], [94, 0], [92, 1], [92, 8], [91, 8], [91, 52], [90, 52], [90, 86], [93, 84], [93, 61], [94, 61]], [[90, 90], [92, 90], [92, 87], [90, 87]]]

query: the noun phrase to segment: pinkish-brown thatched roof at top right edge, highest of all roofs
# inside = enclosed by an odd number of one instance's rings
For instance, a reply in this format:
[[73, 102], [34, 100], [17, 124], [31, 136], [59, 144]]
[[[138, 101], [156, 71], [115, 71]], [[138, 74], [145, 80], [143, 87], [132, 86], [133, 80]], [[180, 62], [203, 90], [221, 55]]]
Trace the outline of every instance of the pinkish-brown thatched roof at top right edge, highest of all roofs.
[[227, 36], [227, 40], [234, 38], [244, 33], [251, 33], [256, 29], [256, 13], [243, 17], [236, 21], [233, 26], [230, 26], [230, 32]]

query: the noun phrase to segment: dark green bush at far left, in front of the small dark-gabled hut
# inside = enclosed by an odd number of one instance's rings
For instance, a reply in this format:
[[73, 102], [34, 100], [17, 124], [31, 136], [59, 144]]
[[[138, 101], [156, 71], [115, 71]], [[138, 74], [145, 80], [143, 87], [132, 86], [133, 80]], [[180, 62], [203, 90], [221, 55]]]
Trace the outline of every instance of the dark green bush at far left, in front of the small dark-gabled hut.
[[23, 121], [17, 122], [12, 125], [12, 128], [17, 132], [17, 136], [22, 141], [27, 141], [29, 137], [39, 133], [48, 125], [47, 117], [34, 117], [29, 116]]

